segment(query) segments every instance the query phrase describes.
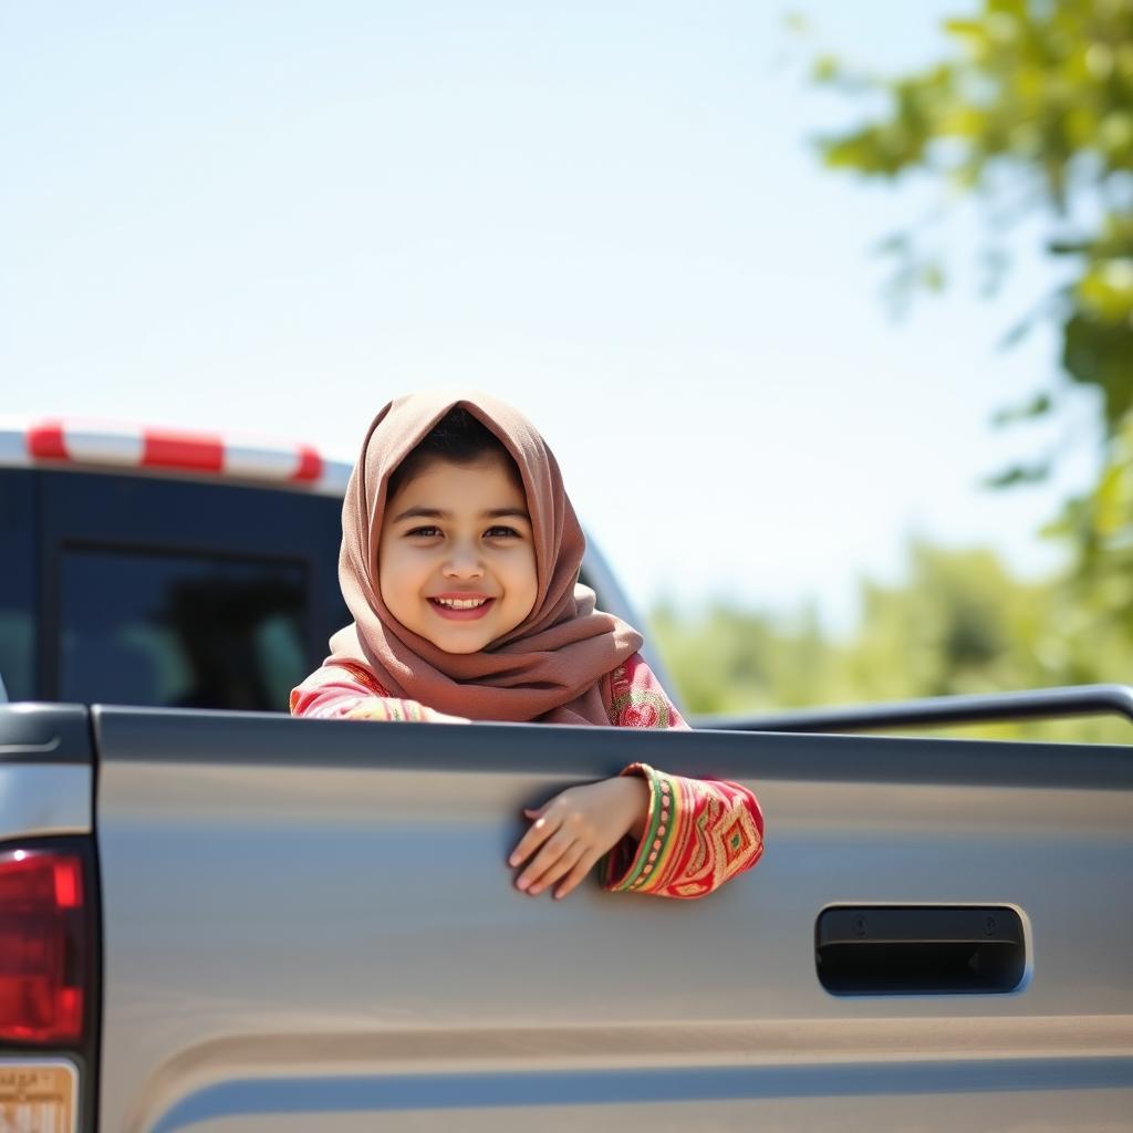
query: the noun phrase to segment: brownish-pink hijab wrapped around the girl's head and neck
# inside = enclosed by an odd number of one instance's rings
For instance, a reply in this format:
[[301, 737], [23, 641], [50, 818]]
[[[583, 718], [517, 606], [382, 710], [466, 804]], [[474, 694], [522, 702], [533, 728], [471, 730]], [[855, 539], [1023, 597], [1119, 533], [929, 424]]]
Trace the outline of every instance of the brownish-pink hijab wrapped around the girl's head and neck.
[[[450, 654], [406, 629], [377, 586], [390, 474], [450, 409], [461, 407], [519, 468], [535, 538], [538, 589], [527, 619], [474, 654]], [[353, 623], [331, 638], [329, 662], [361, 662], [392, 696], [471, 719], [608, 724], [598, 682], [641, 648], [631, 625], [595, 610], [578, 583], [586, 539], [559, 465], [530, 421], [486, 394], [414, 393], [374, 418], [342, 503], [339, 581]]]

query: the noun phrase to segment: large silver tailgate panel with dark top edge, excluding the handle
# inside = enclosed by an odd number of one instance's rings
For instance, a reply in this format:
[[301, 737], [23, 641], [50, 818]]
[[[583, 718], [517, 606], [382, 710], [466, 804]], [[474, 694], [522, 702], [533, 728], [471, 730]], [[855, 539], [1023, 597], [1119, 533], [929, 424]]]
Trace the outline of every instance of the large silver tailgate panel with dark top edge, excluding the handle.
[[[102, 1130], [1133, 1126], [1133, 787], [1080, 749], [1029, 782], [1007, 744], [140, 718], [102, 727]], [[699, 902], [516, 892], [520, 808], [647, 753], [750, 783], [765, 860]], [[1010, 904], [1030, 969], [832, 996], [845, 902]]]

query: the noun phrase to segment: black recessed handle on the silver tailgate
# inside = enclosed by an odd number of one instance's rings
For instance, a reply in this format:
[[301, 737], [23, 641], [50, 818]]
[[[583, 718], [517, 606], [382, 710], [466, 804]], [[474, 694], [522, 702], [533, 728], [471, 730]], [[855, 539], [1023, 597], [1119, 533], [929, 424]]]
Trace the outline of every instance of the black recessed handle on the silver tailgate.
[[1023, 980], [1026, 944], [1006, 905], [829, 905], [815, 964], [834, 995], [1007, 994]]

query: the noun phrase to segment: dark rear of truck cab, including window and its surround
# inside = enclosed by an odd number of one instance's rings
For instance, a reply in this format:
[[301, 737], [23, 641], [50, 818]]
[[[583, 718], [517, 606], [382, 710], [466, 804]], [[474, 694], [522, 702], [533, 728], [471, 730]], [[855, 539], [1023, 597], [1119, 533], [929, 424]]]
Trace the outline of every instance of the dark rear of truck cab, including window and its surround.
[[[36, 680], [11, 699], [287, 710], [349, 620], [333, 496], [39, 470]], [[33, 578], [35, 577], [33, 571]], [[8, 590], [6, 583], [5, 588]], [[10, 602], [15, 606], [15, 602]], [[15, 625], [15, 615], [12, 615]], [[7, 670], [3, 671], [7, 680]], [[14, 672], [16, 672], [14, 666]]]

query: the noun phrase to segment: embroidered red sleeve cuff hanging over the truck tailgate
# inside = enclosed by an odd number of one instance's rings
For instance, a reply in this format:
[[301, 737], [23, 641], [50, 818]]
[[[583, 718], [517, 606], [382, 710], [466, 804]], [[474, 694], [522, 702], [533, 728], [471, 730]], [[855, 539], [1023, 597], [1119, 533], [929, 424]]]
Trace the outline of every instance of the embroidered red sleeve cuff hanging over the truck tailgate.
[[640, 843], [623, 838], [606, 857], [606, 889], [702, 897], [759, 861], [764, 816], [747, 787], [666, 775], [648, 764], [622, 774], [649, 784], [649, 812]]

